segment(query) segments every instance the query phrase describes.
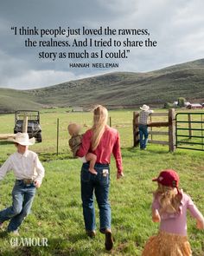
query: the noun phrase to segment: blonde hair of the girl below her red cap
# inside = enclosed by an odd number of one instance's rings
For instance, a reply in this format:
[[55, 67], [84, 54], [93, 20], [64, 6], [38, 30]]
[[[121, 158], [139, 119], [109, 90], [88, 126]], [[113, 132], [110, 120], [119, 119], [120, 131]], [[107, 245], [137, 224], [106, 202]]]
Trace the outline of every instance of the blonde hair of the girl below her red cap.
[[175, 187], [166, 187], [158, 183], [154, 196], [160, 203], [160, 213], [179, 213], [182, 200], [182, 194], [178, 193]]

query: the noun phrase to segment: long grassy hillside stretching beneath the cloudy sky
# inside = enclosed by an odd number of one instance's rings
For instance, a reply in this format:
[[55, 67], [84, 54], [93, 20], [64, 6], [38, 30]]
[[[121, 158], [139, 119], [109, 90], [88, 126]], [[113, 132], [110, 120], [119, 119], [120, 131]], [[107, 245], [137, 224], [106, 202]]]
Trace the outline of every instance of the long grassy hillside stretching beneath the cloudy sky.
[[[43, 89], [0, 89], [0, 108], [163, 104], [177, 97], [204, 102], [204, 59], [147, 73], [114, 72]], [[10, 100], [7, 101], [8, 97]], [[18, 99], [21, 99], [20, 101]]]

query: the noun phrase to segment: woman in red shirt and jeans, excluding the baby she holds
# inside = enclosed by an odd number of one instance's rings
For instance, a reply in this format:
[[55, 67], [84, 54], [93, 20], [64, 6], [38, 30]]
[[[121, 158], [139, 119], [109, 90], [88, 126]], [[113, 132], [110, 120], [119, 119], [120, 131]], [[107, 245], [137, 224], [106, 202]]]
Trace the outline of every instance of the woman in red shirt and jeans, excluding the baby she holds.
[[112, 214], [108, 200], [110, 186], [110, 161], [111, 154], [114, 155], [117, 165], [117, 178], [122, 177], [123, 167], [120, 152], [118, 131], [107, 125], [108, 112], [103, 106], [93, 110], [93, 125], [87, 130], [82, 138], [82, 145], [77, 155], [83, 157], [88, 152], [97, 156], [94, 169], [97, 175], [89, 172], [89, 164], [84, 163], [81, 167], [81, 199], [86, 233], [94, 237], [96, 232], [95, 210], [93, 202], [93, 191], [99, 206], [100, 232], [105, 233], [105, 248], [112, 250]]

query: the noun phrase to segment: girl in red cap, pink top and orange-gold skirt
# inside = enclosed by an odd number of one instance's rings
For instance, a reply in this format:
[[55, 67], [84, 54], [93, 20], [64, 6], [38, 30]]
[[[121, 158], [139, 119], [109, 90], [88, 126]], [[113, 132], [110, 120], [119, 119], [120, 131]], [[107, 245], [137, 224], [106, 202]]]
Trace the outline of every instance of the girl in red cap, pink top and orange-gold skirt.
[[190, 256], [187, 238], [187, 210], [204, 229], [204, 218], [191, 198], [179, 189], [174, 170], [163, 170], [156, 179], [158, 187], [152, 203], [152, 220], [160, 222], [159, 232], [147, 241], [142, 256]]

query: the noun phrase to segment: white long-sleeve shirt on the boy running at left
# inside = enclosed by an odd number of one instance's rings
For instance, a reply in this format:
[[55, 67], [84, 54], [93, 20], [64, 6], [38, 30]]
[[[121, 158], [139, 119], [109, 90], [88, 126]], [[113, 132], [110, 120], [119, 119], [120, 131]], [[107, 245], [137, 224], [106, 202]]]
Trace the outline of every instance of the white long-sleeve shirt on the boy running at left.
[[3, 180], [5, 174], [11, 170], [13, 170], [16, 180], [33, 179], [39, 181], [40, 184], [45, 174], [38, 155], [30, 150], [26, 150], [24, 154], [18, 152], [11, 154], [0, 167], [0, 180]]

